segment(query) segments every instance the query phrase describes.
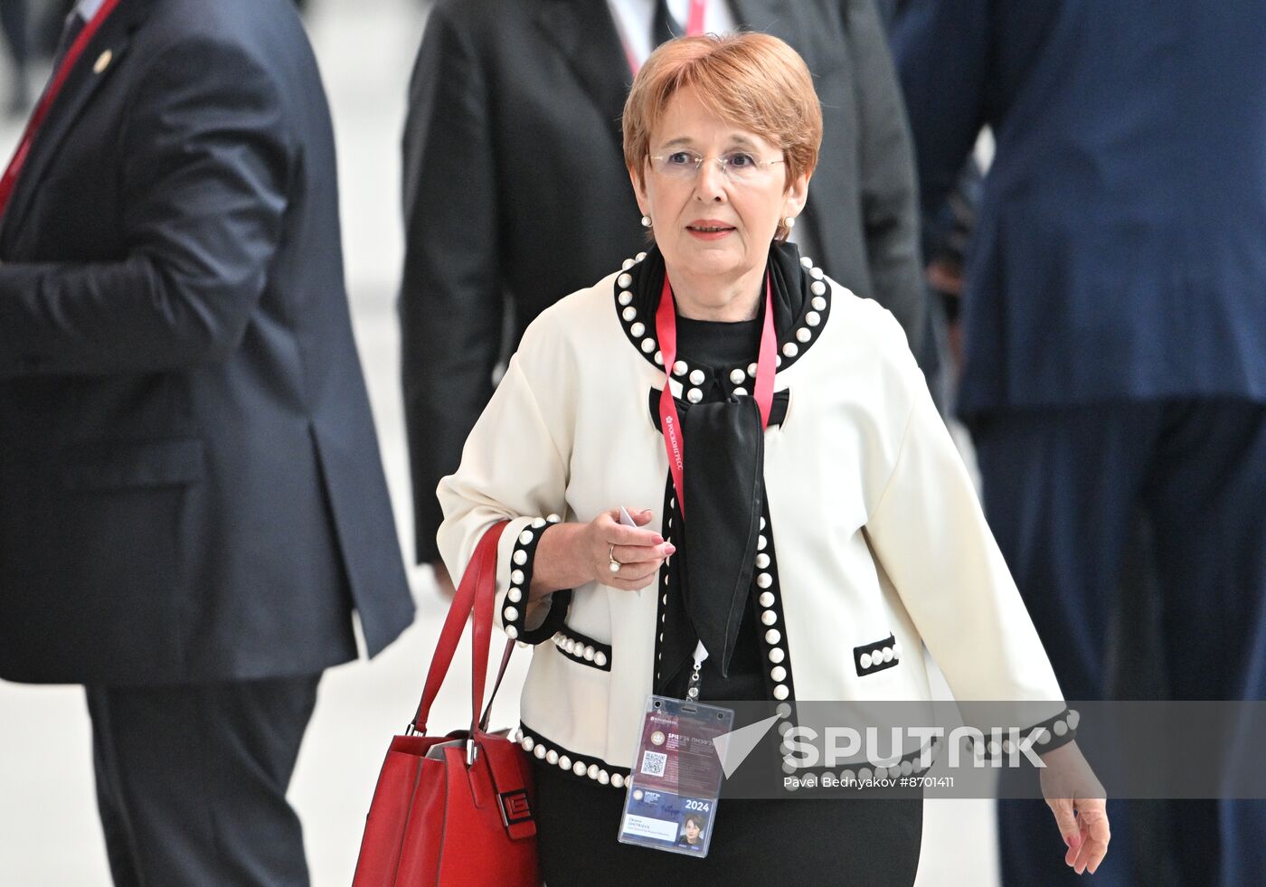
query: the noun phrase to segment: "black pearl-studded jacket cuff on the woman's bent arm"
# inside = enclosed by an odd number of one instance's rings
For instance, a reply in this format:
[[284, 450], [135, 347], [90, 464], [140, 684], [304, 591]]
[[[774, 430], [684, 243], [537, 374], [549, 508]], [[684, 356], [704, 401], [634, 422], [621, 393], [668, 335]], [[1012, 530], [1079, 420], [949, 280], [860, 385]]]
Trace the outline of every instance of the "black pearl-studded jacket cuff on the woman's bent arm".
[[537, 544], [561, 520], [556, 514], [548, 518], [518, 518], [501, 531], [494, 620], [514, 640], [525, 644], [549, 640], [567, 617], [567, 607], [571, 606], [570, 588], [528, 602]]

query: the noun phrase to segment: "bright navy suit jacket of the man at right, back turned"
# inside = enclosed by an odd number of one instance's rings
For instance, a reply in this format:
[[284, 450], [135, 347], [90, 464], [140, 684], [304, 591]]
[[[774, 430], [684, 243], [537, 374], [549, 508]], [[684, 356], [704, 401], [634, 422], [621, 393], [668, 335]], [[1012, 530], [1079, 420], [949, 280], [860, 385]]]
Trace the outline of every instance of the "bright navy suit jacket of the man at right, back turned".
[[923, 200], [984, 124], [960, 409], [1266, 400], [1266, 5], [909, 0]]

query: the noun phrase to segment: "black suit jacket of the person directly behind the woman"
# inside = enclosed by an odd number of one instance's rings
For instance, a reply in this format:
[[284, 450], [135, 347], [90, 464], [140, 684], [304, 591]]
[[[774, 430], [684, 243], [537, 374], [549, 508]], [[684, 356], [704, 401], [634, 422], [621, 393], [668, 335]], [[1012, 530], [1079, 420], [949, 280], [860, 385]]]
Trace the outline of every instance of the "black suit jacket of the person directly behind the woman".
[[[905, 114], [874, 0], [734, 0], [815, 75], [825, 132], [803, 252], [874, 296], [918, 348], [924, 304]], [[544, 307], [644, 248], [620, 139], [632, 82], [604, 0], [441, 0], [404, 138], [400, 294], [418, 559], [438, 558], [439, 478], [503, 354]]]

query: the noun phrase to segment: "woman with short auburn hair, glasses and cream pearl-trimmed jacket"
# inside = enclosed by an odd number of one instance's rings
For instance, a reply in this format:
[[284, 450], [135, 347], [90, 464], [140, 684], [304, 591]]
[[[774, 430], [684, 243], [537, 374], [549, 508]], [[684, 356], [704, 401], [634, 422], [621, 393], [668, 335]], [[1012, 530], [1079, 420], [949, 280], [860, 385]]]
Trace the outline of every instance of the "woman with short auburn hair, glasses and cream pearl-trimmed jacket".
[[[928, 700], [927, 644], [958, 698], [1044, 702], [1069, 726], [900, 326], [785, 242], [820, 138], [781, 40], [652, 53], [624, 111], [652, 244], [528, 328], [439, 486], [454, 576], [510, 521], [496, 619], [538, 645], [517, 735], [549, 887], [913, 882], [918, 793], [723, 800], [704, 859], [618, 843], [651, 693], [767, 701], [785, 724], [796, 700]], [[1051, 772], [1082, 773], [1056, 733]], [[1094, 871], [1101, 797], [1052, 806]]]

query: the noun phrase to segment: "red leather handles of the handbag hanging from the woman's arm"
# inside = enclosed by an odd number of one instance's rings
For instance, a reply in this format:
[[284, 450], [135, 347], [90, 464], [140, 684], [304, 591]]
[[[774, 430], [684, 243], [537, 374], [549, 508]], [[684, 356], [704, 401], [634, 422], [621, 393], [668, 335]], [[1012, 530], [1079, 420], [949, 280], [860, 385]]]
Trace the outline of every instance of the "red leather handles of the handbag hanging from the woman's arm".
[[[471, 555], [466, 572], [462, 574], [462, 581], [457, 587], [457, 593], [453, 596], [453, 602], [448, 606], [448, 616], [444, 619], [444, 626], [439, 631], [436, 653], [430, 658], [430, 671], [427, 672], [427, 685], [422, 691], [422, 701], [418, 702], [418, 711], [410, 723], [410, 729], [414, 733], [423, 735], [427, 733], [427, 719], [430, 715], [430, 706], [434, 704], [436, 696], [439, 695], [439, 687], [444, 683], [448, 667], [452, 664], [453, 654], [457, 652], [457, 643], [462, 636], [462, 629], [466, 625], [466, 617], [472, 611], [475, 612], [475, 668], [471, 682], [472, 726], [475, 719], [479, 716], [480, 706], [484, 701], [484, 682], [487, 679], [487, 650], [492, 634], [492, 599], [496, 595], [496, 545], [501, 538], [501, 530], [505, 529], [508, 523], [505, 520], [498, 521], [484, 533], [475, 547], [475, 554]], [[481, 621], [484, 623], [482, 631], [480, 630]]]

